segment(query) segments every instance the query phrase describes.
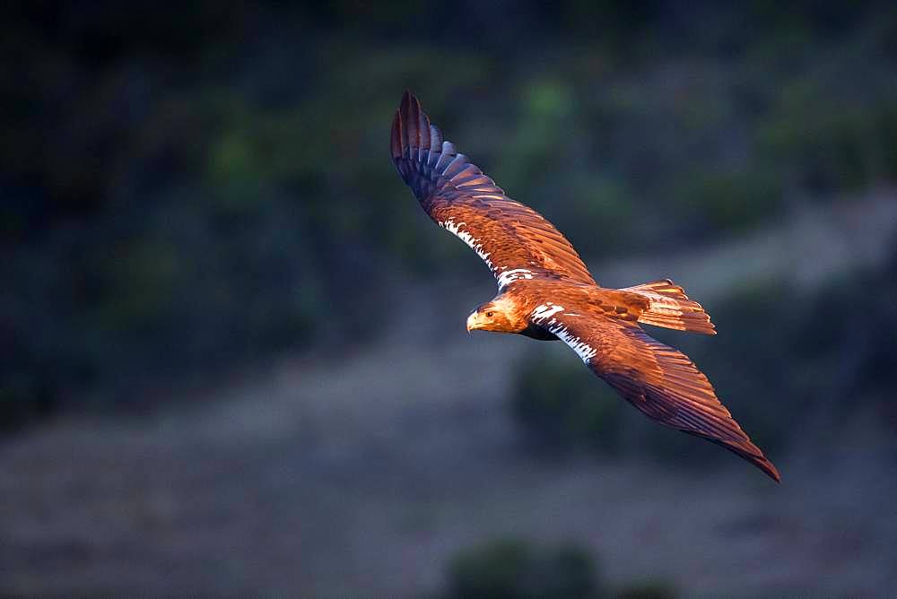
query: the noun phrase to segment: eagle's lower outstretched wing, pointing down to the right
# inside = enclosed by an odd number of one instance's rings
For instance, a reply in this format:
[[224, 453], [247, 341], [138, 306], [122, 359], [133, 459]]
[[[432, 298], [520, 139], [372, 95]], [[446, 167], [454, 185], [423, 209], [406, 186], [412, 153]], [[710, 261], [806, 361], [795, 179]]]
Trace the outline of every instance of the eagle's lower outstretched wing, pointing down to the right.
[[531, 317], [649, 418], [726, 447], [779, 481], [779, 471], [719, 403], [710, 381], [688, 356], [638, 325], [587, 310], [546, 302]]

